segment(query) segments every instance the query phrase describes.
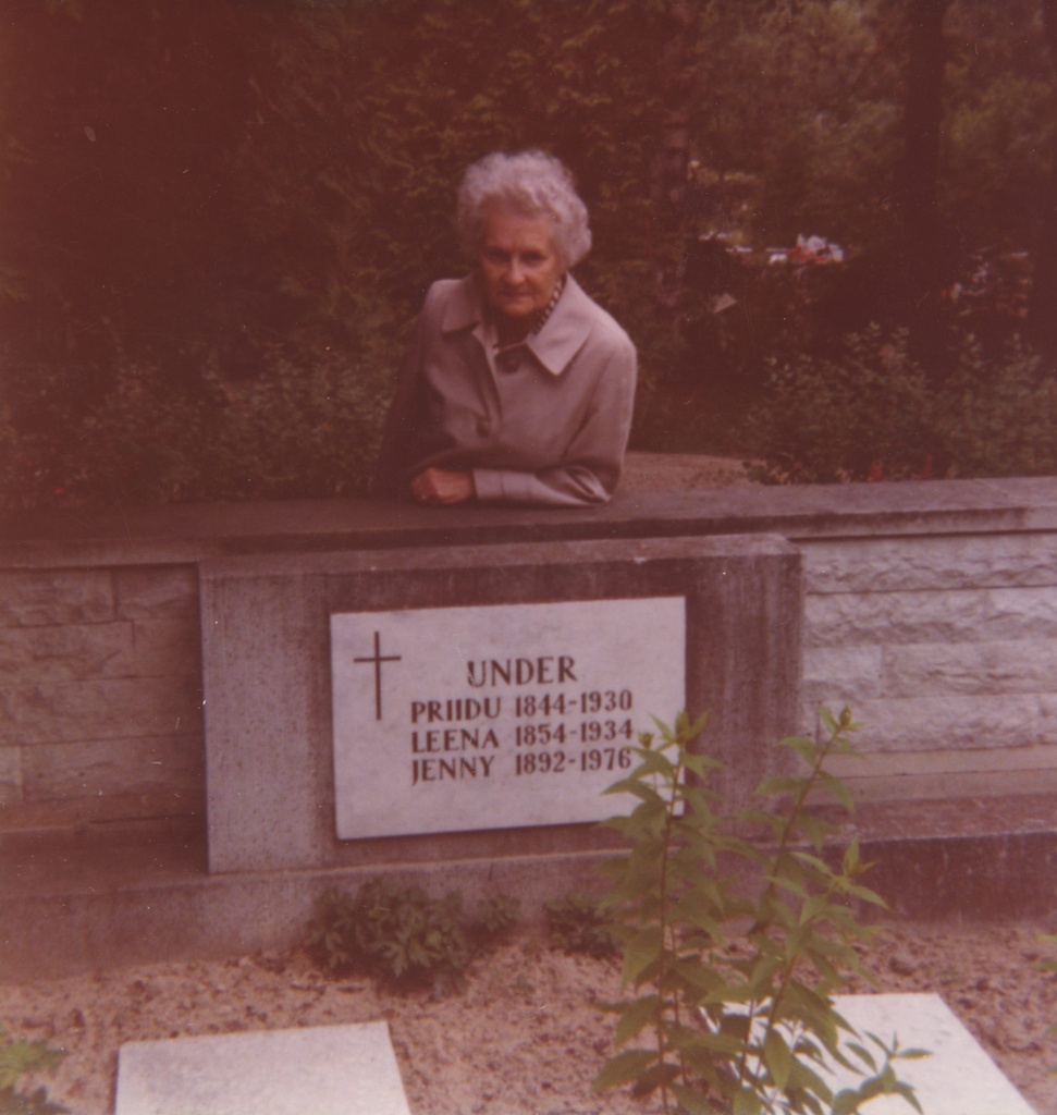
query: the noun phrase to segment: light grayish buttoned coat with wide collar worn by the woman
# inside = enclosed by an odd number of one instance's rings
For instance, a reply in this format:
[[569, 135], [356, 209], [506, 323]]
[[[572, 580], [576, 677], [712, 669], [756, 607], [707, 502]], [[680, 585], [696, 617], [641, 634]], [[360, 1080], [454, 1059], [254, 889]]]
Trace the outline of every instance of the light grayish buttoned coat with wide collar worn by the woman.
[[474, 275], [426, 295], [386, 421], [375, 491], [406, 495], [424, 468], [473, 473], [486, 502], [607, 502], [636, 385], [628, 334], [570, 275], [543, 328], [491, 352]]

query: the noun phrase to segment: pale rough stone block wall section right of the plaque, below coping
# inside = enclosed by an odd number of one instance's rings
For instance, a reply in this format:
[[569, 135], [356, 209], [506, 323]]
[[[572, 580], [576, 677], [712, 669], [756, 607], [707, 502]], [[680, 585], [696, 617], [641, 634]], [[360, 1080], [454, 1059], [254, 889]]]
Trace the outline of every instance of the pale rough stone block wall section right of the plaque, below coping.
[[853, 707], [857, 796], [1057, 788], [1057, 534], [799, 541], [805, 724]]

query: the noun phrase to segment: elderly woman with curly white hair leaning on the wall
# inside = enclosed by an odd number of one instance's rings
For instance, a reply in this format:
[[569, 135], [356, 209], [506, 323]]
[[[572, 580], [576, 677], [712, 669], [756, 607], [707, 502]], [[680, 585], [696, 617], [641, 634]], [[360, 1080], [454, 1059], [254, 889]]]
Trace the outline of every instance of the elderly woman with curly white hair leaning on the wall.
[[569, 273], [591, 248], [570, 173], [541, 152], [488, 155], [463, 178], [458, 227], [475, 265], [426, 295], [375, 491], [604, 503], [628, 444], [636, 352]]

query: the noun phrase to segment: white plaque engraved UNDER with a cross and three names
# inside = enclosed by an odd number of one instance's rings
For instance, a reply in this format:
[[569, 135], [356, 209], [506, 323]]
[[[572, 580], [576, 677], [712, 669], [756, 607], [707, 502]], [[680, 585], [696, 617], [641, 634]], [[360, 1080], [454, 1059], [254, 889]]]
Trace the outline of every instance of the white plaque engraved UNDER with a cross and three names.
[[686, 705], [682, 597], [330, 618], [341, 840], [601, 821]]

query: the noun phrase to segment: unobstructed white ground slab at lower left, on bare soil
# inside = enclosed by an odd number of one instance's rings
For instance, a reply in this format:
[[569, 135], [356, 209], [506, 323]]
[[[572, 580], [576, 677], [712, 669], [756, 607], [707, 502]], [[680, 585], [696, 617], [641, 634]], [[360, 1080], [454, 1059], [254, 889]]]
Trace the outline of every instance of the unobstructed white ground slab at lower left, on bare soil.
[[115, 1115], [410, 1115], [385, 1022], [133, 1041]]

